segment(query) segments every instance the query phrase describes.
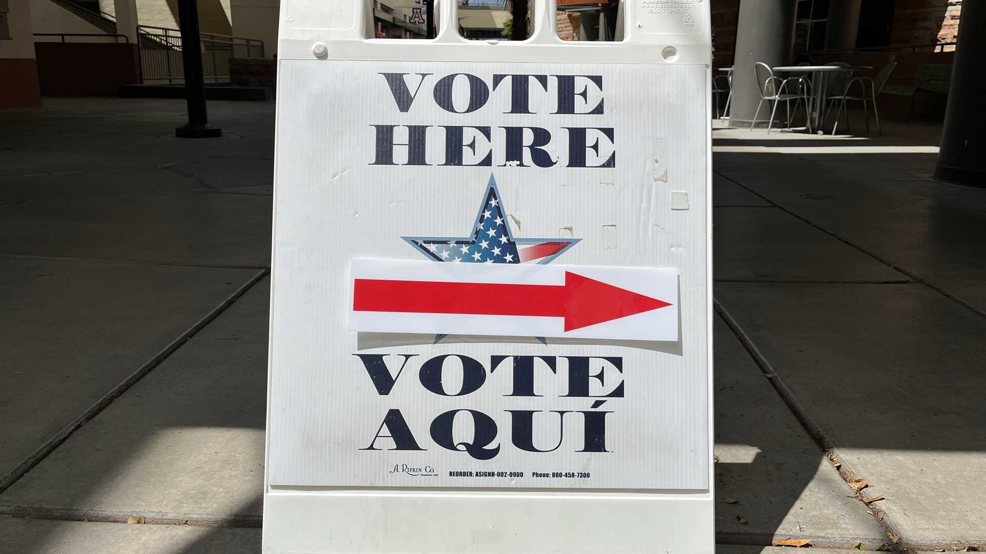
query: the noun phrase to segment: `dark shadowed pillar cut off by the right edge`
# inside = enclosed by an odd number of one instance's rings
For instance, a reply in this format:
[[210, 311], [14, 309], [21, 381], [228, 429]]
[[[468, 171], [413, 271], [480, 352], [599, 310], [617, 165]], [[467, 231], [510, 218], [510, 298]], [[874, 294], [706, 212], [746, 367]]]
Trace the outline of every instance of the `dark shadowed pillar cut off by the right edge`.
[[958, 20], [958, 44], [951, 66], [949, 104], [945, 109], [937, 178], [986, 187], [986, 111], [983, 91], [986, 72], [986, 3], [963, 2]]

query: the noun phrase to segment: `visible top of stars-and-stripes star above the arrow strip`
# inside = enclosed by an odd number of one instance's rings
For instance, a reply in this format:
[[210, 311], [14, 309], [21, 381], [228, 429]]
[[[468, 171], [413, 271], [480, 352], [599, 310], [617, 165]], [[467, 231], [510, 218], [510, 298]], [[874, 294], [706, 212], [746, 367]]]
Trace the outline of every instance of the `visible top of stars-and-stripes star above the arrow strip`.
[[467, 237], [401, 237], [433, 261], [463, 263], [550, 263], [581, 239], [519, 239], [507, 221], [496, 179], [483, 194]]

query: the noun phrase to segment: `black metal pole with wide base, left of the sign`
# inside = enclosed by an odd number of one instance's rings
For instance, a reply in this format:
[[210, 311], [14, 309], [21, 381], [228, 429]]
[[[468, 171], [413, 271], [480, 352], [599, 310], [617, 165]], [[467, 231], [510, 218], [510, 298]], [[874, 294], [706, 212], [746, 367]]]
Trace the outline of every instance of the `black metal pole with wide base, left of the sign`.
[[198, 7], [195, 0], [177, 0], [178, 24], [181, 26], [181, 61], [184, 65], [185, 99], [188, 123], [175, 129], [181, 138], [215, 138], [223, 135], [219, 127], [209, 125], [205, 113], [205, 79], [202, 77], [202, 43], [198, 37]]

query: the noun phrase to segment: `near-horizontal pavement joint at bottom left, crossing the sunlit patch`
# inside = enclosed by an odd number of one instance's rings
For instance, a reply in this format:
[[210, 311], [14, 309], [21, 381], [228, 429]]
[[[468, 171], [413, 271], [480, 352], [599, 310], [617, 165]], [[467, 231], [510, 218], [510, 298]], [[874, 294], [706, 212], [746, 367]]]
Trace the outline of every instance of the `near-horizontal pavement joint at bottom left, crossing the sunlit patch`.
[[103, 510], [75, 508], [35, 508], [32, 506], [2, 506], [0, 517], [20, 519], [57, 519], [61, 521], [93, 521], [98, 523], [126, 523], [127, 519], [144, 518], [153, 525], [200, 525], [210, 527], [259, 528], [261, 516], [217, 516], [212, 514], [176, 514], [170, 512], [144, 512], [136, 510]]

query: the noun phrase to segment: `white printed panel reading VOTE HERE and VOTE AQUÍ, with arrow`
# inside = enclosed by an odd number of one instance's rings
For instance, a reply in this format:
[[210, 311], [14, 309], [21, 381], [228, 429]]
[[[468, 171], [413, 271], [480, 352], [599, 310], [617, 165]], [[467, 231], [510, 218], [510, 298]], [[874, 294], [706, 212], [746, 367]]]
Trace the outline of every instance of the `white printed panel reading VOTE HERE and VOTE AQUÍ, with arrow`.
[[707, 66], [278, 78], [268, 485], [709, 488]]

